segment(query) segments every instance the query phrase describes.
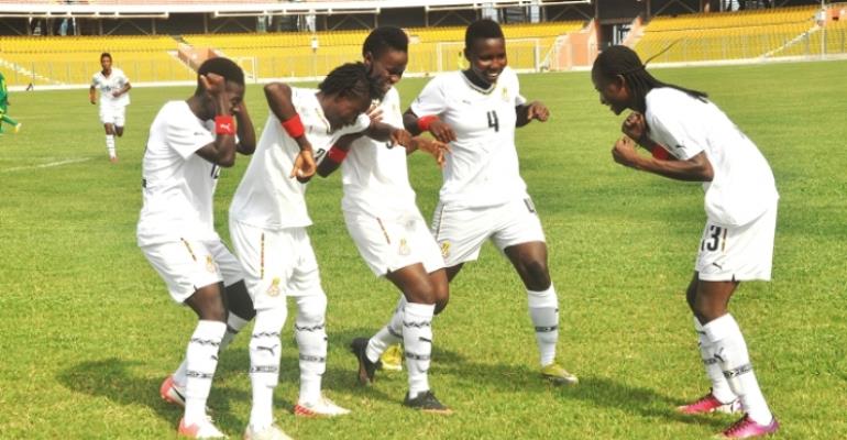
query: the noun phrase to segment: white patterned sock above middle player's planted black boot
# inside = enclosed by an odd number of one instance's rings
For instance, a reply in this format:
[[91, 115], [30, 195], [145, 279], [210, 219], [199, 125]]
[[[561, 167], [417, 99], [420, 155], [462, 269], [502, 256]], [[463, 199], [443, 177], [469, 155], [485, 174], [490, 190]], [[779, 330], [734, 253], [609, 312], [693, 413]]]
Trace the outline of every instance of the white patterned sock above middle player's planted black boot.
[[427, 372], [432, 355], [435, 304], [408, 302], [403, 310], [403, 345], [409, 372], [409, 398], [429, 391]]

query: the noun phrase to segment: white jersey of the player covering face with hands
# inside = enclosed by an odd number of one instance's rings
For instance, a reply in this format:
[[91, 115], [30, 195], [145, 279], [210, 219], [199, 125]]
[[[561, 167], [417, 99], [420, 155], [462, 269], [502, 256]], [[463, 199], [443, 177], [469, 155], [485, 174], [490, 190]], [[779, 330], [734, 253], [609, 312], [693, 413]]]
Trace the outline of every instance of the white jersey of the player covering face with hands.
[[195, 154], [215, 142], [212, 129], [185, 101], [170, 101], [156, 114], [142, 162], [140, 246], [220, 240], [212, 217], [220, 167]]

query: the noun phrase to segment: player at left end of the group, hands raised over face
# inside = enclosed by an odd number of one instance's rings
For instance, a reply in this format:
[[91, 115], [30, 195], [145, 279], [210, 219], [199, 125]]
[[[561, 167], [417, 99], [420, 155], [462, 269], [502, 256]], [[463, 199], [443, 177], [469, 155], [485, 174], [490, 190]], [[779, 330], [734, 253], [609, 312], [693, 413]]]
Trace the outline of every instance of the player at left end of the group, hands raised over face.
[[199, 318], [185, 362], [161, 388], [165, 400], [185, 406], [178, 433], [189, 438], [224, 437], [206, 414], [206, 400], [219, 350], [253, 316], [241, 265], [212, 218], [220, 168], [232, 166], [237, 152], [255, 148], [243, 98], [244, 74], [235, 63], [205, 62], [195, 95], [167, 102], [153, 120], [142, 162], [139, 246], [170, 297]]

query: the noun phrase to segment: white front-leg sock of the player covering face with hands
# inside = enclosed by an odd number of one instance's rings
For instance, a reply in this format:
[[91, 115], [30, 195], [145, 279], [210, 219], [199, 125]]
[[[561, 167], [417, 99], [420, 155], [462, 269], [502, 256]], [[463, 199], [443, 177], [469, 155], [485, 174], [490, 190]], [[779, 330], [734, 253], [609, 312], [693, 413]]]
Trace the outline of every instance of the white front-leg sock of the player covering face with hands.
[[227, 324], [219, 321], [200, 320], [191, 334], [186, 350], [185, 424], [190, 426], [206, 418], [206, 400], [209, 398], [215, 370], [218, 366], [218, 351]]

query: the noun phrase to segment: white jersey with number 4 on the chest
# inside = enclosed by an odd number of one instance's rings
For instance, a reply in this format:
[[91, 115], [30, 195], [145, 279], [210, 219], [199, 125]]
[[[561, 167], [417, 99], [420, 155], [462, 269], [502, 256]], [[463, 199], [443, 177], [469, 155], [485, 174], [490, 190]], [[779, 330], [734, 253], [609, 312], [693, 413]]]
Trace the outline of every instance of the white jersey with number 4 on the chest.
[[438, 116], [457, 136], [447, 155], [441, 202], [477, 208], [526, 197], [515, 150], [515, 107], [525, 102], [518, 77], [508, 67], [490, 90], [480, 89], [461, 72], [427, 84], [411, 111]]

